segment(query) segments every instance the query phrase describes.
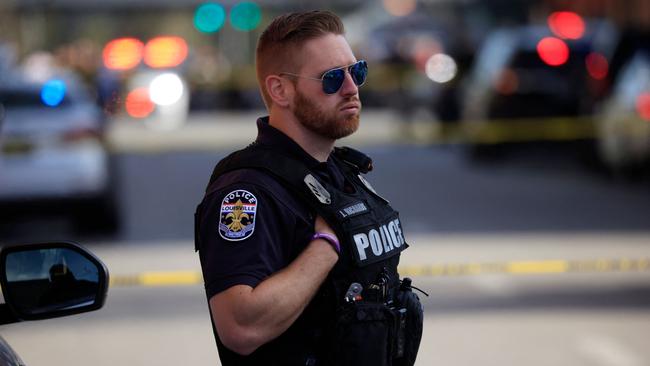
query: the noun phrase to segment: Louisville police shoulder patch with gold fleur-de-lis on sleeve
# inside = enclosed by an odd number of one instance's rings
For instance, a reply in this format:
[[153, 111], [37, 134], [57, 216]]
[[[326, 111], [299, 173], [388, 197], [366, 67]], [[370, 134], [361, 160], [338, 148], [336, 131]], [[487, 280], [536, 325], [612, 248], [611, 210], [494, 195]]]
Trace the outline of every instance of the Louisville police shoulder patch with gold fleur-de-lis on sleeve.
[[253, 235], [257, 198], [243, 189], [232, 191], [221, 202], [219, 235], [230, 241], [244, 240]]

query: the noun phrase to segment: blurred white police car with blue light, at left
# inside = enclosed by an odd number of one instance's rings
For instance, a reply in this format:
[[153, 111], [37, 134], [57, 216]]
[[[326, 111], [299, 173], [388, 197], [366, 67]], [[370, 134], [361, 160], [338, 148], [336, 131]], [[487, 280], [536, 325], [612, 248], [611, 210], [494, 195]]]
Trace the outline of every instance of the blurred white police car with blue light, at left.
[[114, 224], [101, 110], [73, 77], [0, 85], [0, 204], [77, 203]]

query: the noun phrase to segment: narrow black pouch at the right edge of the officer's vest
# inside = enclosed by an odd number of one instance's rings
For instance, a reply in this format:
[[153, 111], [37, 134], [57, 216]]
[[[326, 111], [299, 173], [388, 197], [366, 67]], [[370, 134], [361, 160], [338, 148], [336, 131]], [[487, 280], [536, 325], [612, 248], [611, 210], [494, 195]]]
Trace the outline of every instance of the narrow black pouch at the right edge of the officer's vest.
[[397, 337], [398, 342], [403, 343], [396, 345], [396, 348], [400, 351], [403, 350], [403, 352], [399, 352], [399, 357], [393, 360], [394, 366], [414, 365], [418, 355], [418, 349], [420, 348], [420, 341], [422, 340], [424, 310], [422, 309], [420, 298], [411, 290], [411, 280], [405, 278], [403, 285], [406, 281], [408, 281], [408, 284], [402, 286], [397, 292], [397, 305], [400, 309], [405, 310], [405, 314], [401, 322], [401, 328], [404, 332], [403, 337]]

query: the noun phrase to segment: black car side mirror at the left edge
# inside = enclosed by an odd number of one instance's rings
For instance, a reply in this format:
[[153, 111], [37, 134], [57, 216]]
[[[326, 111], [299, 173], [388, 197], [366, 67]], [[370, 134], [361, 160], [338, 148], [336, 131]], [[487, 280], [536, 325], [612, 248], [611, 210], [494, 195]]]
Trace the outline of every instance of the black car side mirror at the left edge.
[[101, 308], [108, 270], [78, 244], [21, 244], [0, 251], [0, 285], [14, 317], [2, 322], [55, 318]]

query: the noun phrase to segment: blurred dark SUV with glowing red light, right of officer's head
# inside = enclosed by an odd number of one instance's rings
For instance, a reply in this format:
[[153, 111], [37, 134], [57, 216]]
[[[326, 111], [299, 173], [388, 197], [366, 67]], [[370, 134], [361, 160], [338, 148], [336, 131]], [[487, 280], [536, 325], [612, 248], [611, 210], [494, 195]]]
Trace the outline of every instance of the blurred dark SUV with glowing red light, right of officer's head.
[[[546, 26], [498, 29], [486, 38], [471, 75], [464, 81], [462, 120], [470, 142], [503, 145], [527, 141], [593, 137], [588, 118], [605, 91], [587, 59], [605, 59], [616, 30], [589, 23], [576, 40], [552, 38]], [[560, 43], [561, 62], [548, 63], [540, 41]], [[564, 46], [563, 46], [564, 45]], [[564, 52], [564, 55], [561, 53]]]

